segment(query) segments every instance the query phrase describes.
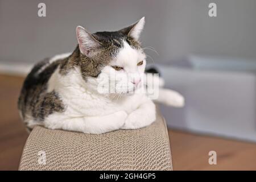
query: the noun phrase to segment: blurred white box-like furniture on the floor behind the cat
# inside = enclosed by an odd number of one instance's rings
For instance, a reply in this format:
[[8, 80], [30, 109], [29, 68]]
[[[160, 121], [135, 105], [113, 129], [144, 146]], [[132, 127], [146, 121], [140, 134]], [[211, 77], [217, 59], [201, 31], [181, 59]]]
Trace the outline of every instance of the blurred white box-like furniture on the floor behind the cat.
[[189, 56], [157, 65], [185, 107], [162, 106], [167, 125], [256, 142], [256, 60]]

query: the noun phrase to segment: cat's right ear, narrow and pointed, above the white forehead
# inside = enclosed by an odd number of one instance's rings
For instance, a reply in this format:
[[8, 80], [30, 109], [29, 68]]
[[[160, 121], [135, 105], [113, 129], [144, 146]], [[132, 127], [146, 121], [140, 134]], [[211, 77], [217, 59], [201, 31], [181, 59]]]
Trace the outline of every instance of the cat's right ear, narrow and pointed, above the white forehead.
[[142, 17], [138, 22], [132, 24], [129, 27], [123, 28], [119, 31], [121, 31], [123, 34], [130, 36], [131, 38], [135, 40], [139, 40], [139, 36], [141, 35], [141, 32], [144, 28], [145, 24], [145, 17]]

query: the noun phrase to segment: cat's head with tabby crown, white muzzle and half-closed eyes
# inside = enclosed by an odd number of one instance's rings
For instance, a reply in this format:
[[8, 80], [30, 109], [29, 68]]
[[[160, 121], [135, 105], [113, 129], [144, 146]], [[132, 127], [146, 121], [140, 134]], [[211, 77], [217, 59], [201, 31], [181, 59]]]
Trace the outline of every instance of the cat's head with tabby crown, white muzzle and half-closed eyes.
[[143, 27], [144, 17], [129, 27], [113, 32], [90, 34], [78, 26], [80, 67], [82, 74], [89, 77], [88, 81], [94, 86], [99, 82], [106, 84], [110, 92], [114, 90], [115, 93], [131, 93], [142, 86], [146, 55], [139, 36]]

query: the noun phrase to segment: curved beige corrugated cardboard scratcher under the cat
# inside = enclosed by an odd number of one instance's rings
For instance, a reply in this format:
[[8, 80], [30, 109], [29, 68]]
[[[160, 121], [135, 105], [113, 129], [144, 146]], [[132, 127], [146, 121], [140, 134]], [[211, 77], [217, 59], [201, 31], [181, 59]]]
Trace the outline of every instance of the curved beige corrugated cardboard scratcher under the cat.
[[93, 135], [36, 126], [19, 170], [172, 170], [167, 127], [152, 125]]

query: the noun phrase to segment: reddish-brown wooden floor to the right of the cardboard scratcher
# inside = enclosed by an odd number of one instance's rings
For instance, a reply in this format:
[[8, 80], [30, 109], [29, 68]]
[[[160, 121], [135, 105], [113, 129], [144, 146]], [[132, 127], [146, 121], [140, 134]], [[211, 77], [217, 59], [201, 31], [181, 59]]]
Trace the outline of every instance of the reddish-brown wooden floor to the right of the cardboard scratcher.
[[[168, 130], [174, 170], [256, 170], [256, 144]], [[217, 165], [208, 163], [217, 152]]]

